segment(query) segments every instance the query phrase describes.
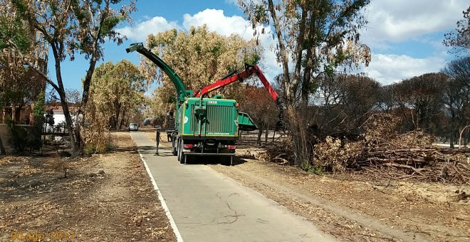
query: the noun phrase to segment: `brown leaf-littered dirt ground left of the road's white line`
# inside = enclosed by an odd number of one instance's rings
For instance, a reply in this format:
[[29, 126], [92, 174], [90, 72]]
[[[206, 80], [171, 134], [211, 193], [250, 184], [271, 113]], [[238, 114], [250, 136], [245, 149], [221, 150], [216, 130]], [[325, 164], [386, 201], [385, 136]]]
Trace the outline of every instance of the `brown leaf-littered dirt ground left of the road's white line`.
[[0, 241], [176, 241], [129, 132], [112, 135], [74, 162], [0, 157]]

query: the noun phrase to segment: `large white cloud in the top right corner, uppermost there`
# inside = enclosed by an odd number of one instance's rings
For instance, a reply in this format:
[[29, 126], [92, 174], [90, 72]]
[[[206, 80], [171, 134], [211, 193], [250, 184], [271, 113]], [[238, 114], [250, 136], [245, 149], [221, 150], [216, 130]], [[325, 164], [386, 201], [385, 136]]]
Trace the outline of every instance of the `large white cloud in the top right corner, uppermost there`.
[[369, 24], [362, 34], [365, 43], [382, 46], [383, 41], [406, 41], [435, 31], [456, 27], [469, 6], [466, 0], [381, 0], [366, 9]]

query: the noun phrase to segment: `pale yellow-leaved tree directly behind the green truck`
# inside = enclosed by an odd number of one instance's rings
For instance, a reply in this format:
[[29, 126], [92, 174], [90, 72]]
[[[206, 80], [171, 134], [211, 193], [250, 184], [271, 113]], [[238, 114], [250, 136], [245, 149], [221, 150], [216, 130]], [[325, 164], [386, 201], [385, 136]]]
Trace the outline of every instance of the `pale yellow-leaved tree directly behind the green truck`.
[[[244, 41], [238, 35], [221, 36], [206, 26], [192, 27], [186, 32], [176, 30], [147, 37], [147, 45], [179, 75], [187, 89], [203, 88], [214, 83], [231, 70], [254, 64], [261, 59], [262, 49], [254, 41]], [[155, 64], [141, 59], [142, 73], [149, 81], [157, 80], [156, 98], [152, 109], [155, 115], [166, 115], [174, 109], [174, 85]], [[236, 98], [239, 85], [234, 83], [211, 94]]]

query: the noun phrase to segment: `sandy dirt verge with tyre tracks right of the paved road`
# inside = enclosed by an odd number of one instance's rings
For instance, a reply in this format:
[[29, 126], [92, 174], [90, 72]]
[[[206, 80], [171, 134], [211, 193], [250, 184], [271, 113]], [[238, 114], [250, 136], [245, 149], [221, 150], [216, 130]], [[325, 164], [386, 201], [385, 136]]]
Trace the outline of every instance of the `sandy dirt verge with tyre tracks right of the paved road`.
[[[155, 140], [155, 131], [147, 130]], [[271, 137], [271, 135], [270, 135]], [[162, 145], [167, 142], [161, 135]], [[242, 135], [239, 157], [264, 152]], [[367, 174], [315, 175], [296, 167], [238, 159], [211, 168], [312, 221], [341, 241], [470, 241], [470, 186], [398, 181]]]

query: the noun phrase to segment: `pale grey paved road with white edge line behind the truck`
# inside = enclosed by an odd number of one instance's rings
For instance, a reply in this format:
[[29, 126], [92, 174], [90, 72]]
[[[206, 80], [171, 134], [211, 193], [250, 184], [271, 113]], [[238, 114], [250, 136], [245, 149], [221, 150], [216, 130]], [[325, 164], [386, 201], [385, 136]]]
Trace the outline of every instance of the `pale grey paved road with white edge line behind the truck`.
[[131, 132], [184, 241], [335, 241], [312, 223], [204, 164], [179, 164], [170, 149]]

